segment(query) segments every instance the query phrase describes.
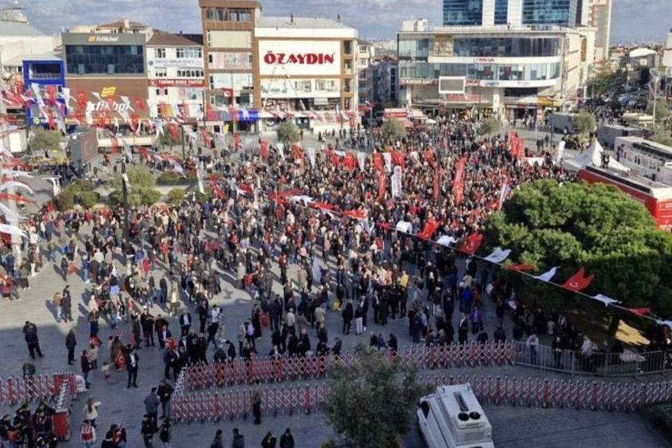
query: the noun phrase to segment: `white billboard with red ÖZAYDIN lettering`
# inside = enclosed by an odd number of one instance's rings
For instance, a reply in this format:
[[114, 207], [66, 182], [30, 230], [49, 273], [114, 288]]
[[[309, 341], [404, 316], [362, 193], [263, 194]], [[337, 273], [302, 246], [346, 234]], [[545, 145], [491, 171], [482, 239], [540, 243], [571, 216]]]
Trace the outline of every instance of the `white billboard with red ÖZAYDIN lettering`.
[[261, 76], [341, 75], [340, 40], [259, 40]]

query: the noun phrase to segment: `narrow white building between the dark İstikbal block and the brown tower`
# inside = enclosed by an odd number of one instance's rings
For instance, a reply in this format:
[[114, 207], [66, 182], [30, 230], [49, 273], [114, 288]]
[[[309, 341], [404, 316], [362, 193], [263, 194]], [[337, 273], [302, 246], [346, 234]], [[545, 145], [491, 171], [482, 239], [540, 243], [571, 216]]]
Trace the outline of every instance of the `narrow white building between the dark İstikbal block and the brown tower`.
[[203, 35], [156, 34], [147, 42], [145, 51], [147, 101], [156, 108], [152, 112], [186, 122], [202, 121]]

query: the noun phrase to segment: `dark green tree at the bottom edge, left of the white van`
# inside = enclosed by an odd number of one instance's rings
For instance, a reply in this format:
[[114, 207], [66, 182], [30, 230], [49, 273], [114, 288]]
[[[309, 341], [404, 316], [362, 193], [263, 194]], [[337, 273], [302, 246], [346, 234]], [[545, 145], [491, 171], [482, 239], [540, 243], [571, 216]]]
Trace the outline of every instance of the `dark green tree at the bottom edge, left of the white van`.
[[327, 420], [345, 446], [395, 448], [411, 429], [411, 407], [425, 392], [415, 372], [400, 382], [397, 367], [377, 350], [359, 347], [354, 365], [329, 366]]

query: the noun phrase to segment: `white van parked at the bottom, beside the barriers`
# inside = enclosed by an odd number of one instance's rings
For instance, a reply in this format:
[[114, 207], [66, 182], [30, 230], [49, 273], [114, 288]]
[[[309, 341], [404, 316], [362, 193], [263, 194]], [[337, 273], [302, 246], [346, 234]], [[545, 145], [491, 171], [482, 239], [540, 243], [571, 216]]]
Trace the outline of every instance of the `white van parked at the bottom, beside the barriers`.
[[492, 426], [469, 384], [442, 385], [418, 403], [418, 429], [429, 448], [494, 448]]

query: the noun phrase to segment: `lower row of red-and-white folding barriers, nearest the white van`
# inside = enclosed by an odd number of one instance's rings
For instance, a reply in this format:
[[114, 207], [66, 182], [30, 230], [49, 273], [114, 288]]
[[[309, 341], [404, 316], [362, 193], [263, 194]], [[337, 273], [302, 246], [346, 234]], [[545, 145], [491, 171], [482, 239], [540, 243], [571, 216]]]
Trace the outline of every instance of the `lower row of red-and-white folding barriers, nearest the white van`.
[[[484, 404], [630, 411], [667, 401], [672, 381], [607, 383], [511, 376], [425, 376], [421, 383], [433, 389], [442, 384], [470, 383]], [[322, 410], [329, 384], [274, 384], [261, 388], [261, 412], [266, 416], [293, 415]], [[245, 420], [252, 415], [252, 388], [217, 392], [185, 392], [178, 381], [172, 396], [175, 422]]]

